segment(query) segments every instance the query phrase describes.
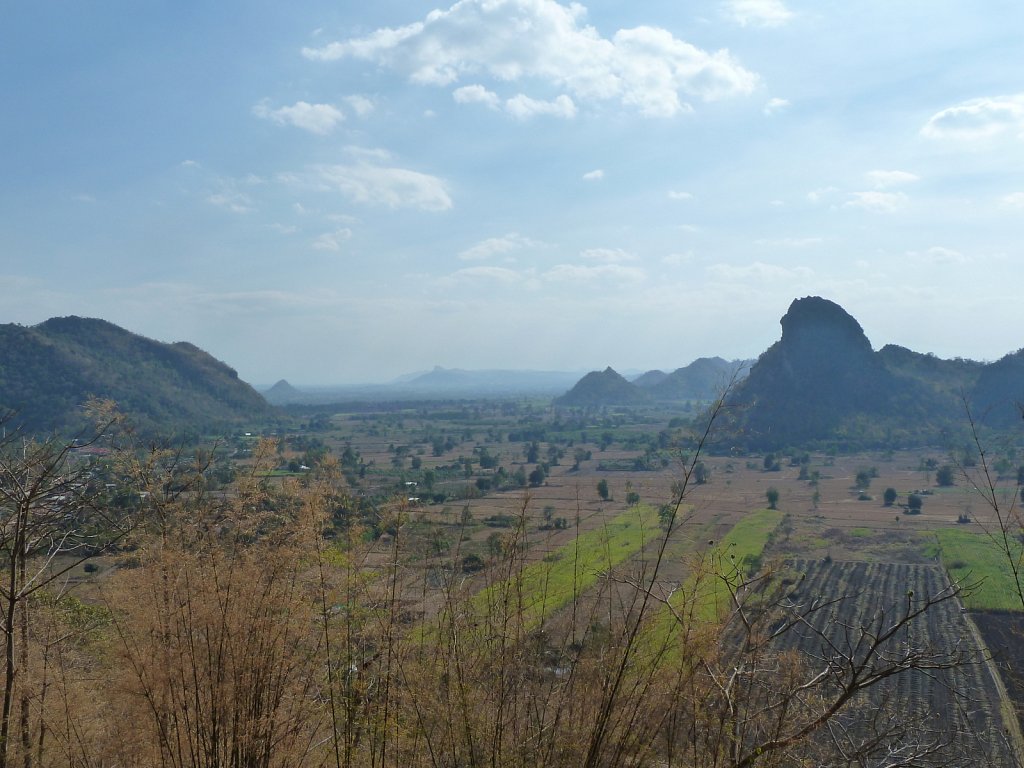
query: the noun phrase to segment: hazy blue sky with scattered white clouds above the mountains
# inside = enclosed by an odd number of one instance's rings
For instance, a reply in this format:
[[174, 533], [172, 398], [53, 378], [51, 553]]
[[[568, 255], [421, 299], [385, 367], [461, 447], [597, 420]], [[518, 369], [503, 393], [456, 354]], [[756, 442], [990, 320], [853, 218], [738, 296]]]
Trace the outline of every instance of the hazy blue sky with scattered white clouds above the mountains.
[[268, 385], [1024, 346], [1019, 0], [38, 0], [0, 25], [0, 323]]

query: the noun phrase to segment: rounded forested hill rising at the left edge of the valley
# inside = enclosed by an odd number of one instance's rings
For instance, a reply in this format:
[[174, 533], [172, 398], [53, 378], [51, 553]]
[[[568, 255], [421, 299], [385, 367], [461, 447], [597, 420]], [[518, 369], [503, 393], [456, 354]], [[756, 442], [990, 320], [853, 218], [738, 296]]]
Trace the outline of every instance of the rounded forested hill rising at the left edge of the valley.
[[166, 344], [101, 319], [0, 325], [0, 409], [30, 432], [82, 424], [89, 397], [115, 400], [140, 428], [169, 433], [266, 416], [236, 371], [186, 342]]

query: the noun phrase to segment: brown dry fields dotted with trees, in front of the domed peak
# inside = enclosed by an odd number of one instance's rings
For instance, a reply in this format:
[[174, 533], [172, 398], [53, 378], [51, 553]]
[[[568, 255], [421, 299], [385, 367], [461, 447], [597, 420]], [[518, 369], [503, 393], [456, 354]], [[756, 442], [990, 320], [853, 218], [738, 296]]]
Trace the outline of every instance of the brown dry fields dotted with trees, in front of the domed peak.
[[[573, 522], [579, 514], [580, 529], [593, 529], [602, 521], [625, 511], [627, 483], [641, 500], [653, 506], [672, 498], [672, 485], [682, 477], [679, 466], [660, 471], [601, 472], [599, 461], [632, 459], [637, 452], [607, 451], [594, 453], [594, 459], [584, 462], [578, 472], [569, 472], [568, 463], [552, 467], [547, 482], [526, 492], [488, 494], [480, 499], [452, 501], [445, 505], [418, 505], [415, 514], [426, 520], [457, 525], [463, 507], [469, 507], [474, 520], [498, 514], [518, 515], [525, 508], [529, 522], [531, 550], [538, 556], [567, 544], [575, 536]], [[984, 503], [957, 478], [953, 487], [939, 488], [934, 484], [934, 472], [927, 475], [919, 469], [922, 459], [935, 458], [937, 451], [900, 452], [892, 456], [852, 455], [811, 457], [811, 471], [818, 471], [819, 499], [815, 507], [815, 488], [800, 480], [799, 467], [783, 466], [780, 471], [762, 469], [763, 458], [708, 457], [705, 463], [712, 470], [711, 481], [691, 485], [686, 504], [690, 508], [686, 528], [692, 539], [721, 536], [744, 514], [767, 506], [765, 492], [774, 486], [779, 492], [778, 508], [786, 512], [790, 525], [784, 536], [777, 538], [773, 551], [778, 557], [825, 557], [838, 560], [877, 562], [925, 562], [927, 534], [939, 527], [957, 525], [957, 517], [967, 514], [972, 523], [965, 528], [982, 529], [988, 522]], [[868, 494], [870, 501], [859, 501], [854, 488], [858, 470], [877, 468]], [[597, 482], [608, 481], [611, 501], [602, 502]], [[899, 494], [897, 504], [905, 503], [910, 492], [932, 492], [923, 496], [922, 514], [907, 515], [896, 507], [885, 507], [882, 497], [887, 487]], [[553, 507], [553, 517], [564, 517], [569, 523], [565, 530], [540, 530], [544, 508]], [[442, 510], [447, 510], [443, 512]], [[496, 528], [477, 525], [473, 540], [485, 539]]]

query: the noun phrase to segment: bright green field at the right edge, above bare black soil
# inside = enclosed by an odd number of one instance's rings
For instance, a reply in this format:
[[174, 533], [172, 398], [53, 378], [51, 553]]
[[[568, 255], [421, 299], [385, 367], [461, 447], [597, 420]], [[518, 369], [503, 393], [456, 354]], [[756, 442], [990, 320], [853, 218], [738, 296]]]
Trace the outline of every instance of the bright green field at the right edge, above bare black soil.
[[[1021, 600], [1006, 554], [984, 534], [956, 528], [936, 531], [938, 553], [952, 581], [977, 584], [964, 595], [964, 605], [972, 610], [1021, 610]], [[1014, 540], [1017, 557], [1024, 549]]]

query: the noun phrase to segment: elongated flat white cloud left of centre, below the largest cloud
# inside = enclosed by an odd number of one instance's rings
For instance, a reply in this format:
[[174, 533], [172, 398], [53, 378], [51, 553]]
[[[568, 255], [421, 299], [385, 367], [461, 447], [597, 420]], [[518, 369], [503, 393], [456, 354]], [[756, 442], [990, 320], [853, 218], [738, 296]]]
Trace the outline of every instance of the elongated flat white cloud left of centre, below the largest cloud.
[[313, 167], [314, 179], [339, 189], [356, 203], [425, 211], [452, 208], [452, 198], [442, 179], [407, 168], [381, 165], [386, 154], [356, 152], [355, 155], [357, 162], [351, 165]]

